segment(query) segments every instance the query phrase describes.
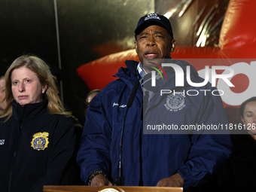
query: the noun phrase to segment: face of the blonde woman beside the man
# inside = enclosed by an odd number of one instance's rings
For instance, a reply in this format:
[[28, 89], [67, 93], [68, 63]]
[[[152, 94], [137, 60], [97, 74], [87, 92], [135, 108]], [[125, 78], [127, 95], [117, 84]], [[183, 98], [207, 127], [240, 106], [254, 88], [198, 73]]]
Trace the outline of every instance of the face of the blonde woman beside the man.
[[41, 85], [38, 77], [34, 72], [25, 66], [14, 69], [11, 74], [11, 90], [16, 102], [20, 105], [41, 102], [43, 91], [47, 86]]

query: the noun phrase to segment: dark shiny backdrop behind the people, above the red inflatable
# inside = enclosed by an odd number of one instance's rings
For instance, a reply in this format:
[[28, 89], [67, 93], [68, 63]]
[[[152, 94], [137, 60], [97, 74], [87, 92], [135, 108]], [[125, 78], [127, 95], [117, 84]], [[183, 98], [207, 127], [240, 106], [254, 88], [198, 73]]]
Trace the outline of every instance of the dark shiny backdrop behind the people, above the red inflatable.
[[[62, 80], [66, 108], [84, 123], [84, 100], [90, 90], [75, 71], [79, 66], [134, 48], [136, 24], [152, 12], [171, 16], [176, 45], [218, 47], [228, 2], [0, 0], [0, 76], [23, 54], [41, 57]], [[206, 36], [201, 44], [200, 35]]]

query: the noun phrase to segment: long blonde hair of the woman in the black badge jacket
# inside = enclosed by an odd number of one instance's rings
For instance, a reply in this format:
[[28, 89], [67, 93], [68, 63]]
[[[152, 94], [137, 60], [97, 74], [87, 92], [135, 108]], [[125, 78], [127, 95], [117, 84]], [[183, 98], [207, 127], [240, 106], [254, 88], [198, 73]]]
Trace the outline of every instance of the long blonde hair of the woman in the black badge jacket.
[[37, 56], [24, 55], [15, 59], [5, 73], [6, 108], [2, 113], [2, 117], [8, 116], [8, 120], [12, 115], [11, 102], [14, 101], [14, 96], [11, 91], [11, 74], [14, 69], [18, 69], [24, 66], [35, 73], [42, 85], [47, 85], [47, 90], [44, 92], [43, 98], [48, 100], [47, 109], [50, 114], [64, 114], [66, 116], [71, 116], [71, 113], [65, 111], [62, 106], [58, 96], [59, 91], [56, 88], [56, 83], [54, 81], [53, 75], [50, 72], [50, 67], [47, 66], [47, 64]]

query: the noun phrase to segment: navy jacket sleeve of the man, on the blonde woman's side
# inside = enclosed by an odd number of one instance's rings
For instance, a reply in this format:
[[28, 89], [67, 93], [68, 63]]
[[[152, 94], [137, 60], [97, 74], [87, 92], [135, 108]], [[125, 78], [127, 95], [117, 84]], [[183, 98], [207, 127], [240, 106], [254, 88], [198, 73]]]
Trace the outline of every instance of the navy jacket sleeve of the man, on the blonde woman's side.
[[81, 166], [81, 179], [87, 184], [90, 174], [97, 170], [111, 175], [111, 126], [98, 93], [87, 110], [84, 131], [78, 150], [77, 161]]

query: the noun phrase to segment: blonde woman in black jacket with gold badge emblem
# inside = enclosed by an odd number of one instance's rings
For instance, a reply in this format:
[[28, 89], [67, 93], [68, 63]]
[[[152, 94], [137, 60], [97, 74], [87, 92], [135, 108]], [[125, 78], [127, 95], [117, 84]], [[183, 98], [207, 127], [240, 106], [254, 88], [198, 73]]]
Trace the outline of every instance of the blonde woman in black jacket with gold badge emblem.
[[0, 119], [1, 191], [42, 191], [72, 184], [75, 127], [60, 102], [49, 66], [20, 56], [5, 73]]

